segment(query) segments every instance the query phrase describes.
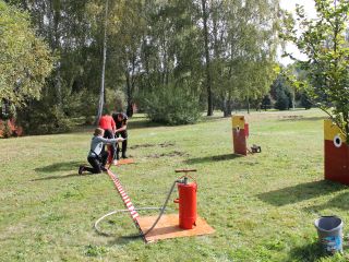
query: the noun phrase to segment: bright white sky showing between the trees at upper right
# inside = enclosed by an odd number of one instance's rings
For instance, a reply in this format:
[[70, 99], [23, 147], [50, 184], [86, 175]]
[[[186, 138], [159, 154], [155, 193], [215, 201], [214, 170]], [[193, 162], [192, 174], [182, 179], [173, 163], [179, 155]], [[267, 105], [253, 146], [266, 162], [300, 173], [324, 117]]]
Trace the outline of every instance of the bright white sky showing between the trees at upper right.
[[[314, 1], [313, 0], [280, 0], [280, 7], [293, 14], [296, 14], [296, 4], [300, 4], [304, 7], [304, 11], [306, 16], [315, 17], [315, 9], [314, 9]], [[286, 46], [286, 51], [292, 53], [297, 58], [302, 58], [302, 56], [298, 48], [294, 45], [288, 44]], [[281, 53], [281, 50], [279, 51]], [[292, 61], [289, 58], [279, 58], [280, 62], [286, 64], [291, 63]]]

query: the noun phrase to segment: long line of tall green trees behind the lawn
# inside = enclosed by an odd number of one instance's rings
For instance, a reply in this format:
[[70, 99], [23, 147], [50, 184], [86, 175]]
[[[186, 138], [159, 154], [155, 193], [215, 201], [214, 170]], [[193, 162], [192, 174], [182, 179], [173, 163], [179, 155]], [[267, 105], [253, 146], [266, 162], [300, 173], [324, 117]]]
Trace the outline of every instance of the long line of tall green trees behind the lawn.
[[[45, 60], [33, 70], [38, 76], [27, 79], [40, 87], [29, 87], [34, 93], [23, 96], [22, 106], [1, 96], [27, 133], [94, 121], [105, 28], [107, 111], [132, 116], [136, 104], [153, 121], [171, 124], [195, 122], [203, 110], [229, 116], [238, 104], [261, 103], [276, 78], [284, 17], [278, 0], [113, 0], [108, 9], [105, 0], [0, 3], [23, 14]], [[16, 78], [7, 81], [3, 88], [24, 86]]]

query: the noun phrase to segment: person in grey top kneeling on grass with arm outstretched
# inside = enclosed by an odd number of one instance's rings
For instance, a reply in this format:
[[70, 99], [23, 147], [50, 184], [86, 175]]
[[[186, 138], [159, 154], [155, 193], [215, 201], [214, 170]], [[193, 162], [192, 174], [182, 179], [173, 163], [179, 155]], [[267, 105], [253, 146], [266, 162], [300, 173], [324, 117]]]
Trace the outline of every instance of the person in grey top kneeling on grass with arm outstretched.
[[105, 134], [105, 130], [101, 128], [96, 128], [94, 136], [91, 141], [91, 150], [87, 155], [87, 160], [92, 165], [92, 167], [80, 166], [79, 174], [83, 174], [83, 171], [89, 171], [92, 174], [99, 174], [101, 171], [106, 171], [106, 163], [108, 158], [108, 152], [103, 151], [105, 144], [116, 144], [118, 142], [122, 142], [124, 139], [105, 139], [103, 138]]

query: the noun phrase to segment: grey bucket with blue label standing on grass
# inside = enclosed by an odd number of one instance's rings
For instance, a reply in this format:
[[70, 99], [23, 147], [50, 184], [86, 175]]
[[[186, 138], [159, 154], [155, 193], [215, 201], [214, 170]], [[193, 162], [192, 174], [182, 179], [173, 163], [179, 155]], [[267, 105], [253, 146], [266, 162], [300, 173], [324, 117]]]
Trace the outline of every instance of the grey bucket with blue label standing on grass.
[[337, 216], [322, 216], [314, 223], [318, 240], [326, 253], [342, 252], [342, 221]]

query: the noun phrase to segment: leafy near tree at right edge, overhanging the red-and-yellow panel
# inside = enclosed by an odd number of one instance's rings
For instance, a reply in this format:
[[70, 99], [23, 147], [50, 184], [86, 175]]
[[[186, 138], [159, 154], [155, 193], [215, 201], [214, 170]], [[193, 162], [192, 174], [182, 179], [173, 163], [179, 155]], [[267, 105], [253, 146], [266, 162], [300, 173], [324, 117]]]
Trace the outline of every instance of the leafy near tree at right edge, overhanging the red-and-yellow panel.
[[306, 56], [305, 60], [293, 58], [308, 72], [305, 80], [293, 83], [330, 117], [349, 144], [349, 48], [345, 40], [349, 2], [315, 0], [315, 10], [317, 19], [309, 19], [298, 5], [300, 34], [294, 22], [287, 20], [281, 36]]

